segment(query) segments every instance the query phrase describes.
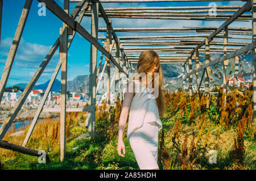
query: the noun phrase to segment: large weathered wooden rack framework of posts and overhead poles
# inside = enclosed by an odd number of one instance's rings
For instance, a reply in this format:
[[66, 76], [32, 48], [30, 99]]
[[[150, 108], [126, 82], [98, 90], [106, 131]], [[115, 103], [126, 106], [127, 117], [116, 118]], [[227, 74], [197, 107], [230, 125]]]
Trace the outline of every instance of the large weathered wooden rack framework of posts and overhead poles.
[[[182, 7], [121, 7], [121, 8], [107, 8], [104, 9], [101, 3], [131, 3], [131, 2], [194, 2], [194, 1], [207, 1], [207, 0], [64, 0], [64, 7], [60, 7], [53, 0], [38, 0], [38, 2], [45, 3], [47, 9], [55, 14], [62, 22], [63, 27], [60, 28], [60, 36], [52, 45], [47, 56], [40, 64], [38, 70], [36, 70], [31, 81], [28, 83], [26, 89], [22, 92], [18, 102], [11, 110], [9, 116], [2, 124], [0, 128], [0, 148], [11, 149], [20, 151], [21, 153], [37, 155], [36, 150], [26, 148], [27, 142], [31, 136], [31, 133], [35, 127], [36, 121], [42, 111], [59, 111], [60, 112], [60, 161], [63, 161], [65, 155], [65, 112], [74, 111], [66, 108], [67, 103], [67, 62], [68, 62], [68, 49], [71, 46], [72, 40], [76, 35], [76, 32], [80, 33], [82, 37], [91, 43], [90, 47], [90, 76], [89, 76], [89, 107], [88, 109], [80, 109], [75, 111], [88, 111], [88, 131], [90, 136], [94, 136], [94, 120], [96, 111], [96, 94], [102, 73], [105, 68], [109, 75], [108, 79], [108, 110], [110, 112], [110, 61], [115, 65], [115, 74], [123, 73], [123, 76], [128, 78], [130, 71], [135, 71], [133, 64], [138, 61], [139, 54], [143, 50], [154, 49], [159, 53], [161, 64], [180, 64], [182, 73], [174, 78], [171, 82], [180, 79], [183, 83], [183, 90], [187, 86], [189, 95], [192, 95], [193, 86], [193, 74], [196, 75], [196, 86], [198, 91], [200, 90], [203, 79], [205, 80], [205, 94], [209, 95], [209, 83], [214, 82], [211, 74], [217, 77], [224, 83], [224, 91], [227, 91], [226, 82], [226, 68], [229, 65], [229, 59], [234, 58], [236, 60], [235, 76], [252, 75], [253, 83], [256, 83], [255, 68], [255, 46], [256, 46], [256, 0], [240, 0], [245, 2], [243, 6], [216, 6], [217, 14], [210, 16], [204, 14], [209, 12], [209, 6], [182, 6]], [[213, 1], [225, 1], [225, 0], [211, 0]], [[235, 0], [239, 1], [239, 0]], [[0, 33], [2, 22], [2, 3], [0, 0]], [[75, 9], [69, 14], [69, 3], [77, 3]], [[6, 65], [3, 70], [3, 74], [0, 81], [0, 102], [5, 90], [7, 80], [11, 71], [11, 67], [14, 62], [16, 50], [18, 49], [20, 37], [26, 24], [26, 19], [30, 11], [32, 0], [26, 0], [24, 3], [22, 14], [18, 27], [15, 32], [13, 44], [7, 57]], [[199, 14], [200, 13], [200, 14]], [[203, 13], [203, 14], [202, 14]], [[228, 13], [228, 14], [227, 14]], [[81, 26], [80, 22], [84, 16], [92, 17], [92, 33], [89, 33]], [[103, 18], [106, 23], [106, 28], [98, 28], [98, 19]], [[109, 18], [132, 18], [132, 19], [178, 19], [178, 20], [222, 20], [224, 23], [220, 27], [183, 27], [183, 28], [113, 28], [112, 21]], [[252, 21], [251, 28], [242, 27], [228, 27], [234, 21], [249, 22]], [[106, 32], [106, 37], [98, 37], [98, 32]], [[175, 32], [185, 33], [185, 35], [166, 35], [166, 36], [120, 36], [118, 37], [115, 32]], [[197, 33], [196, 35], [193, 33]], [[70, 36], [69, 36], [70, 35]], [[243, 37], [241, 37], [243, 36]], [[249, 36], [249, 37], [248, 37]], [[252, 36], [252, 37], [250, 37]], [[223, 39], [223, 41], [213, 40], [214, 38]], [[241, 41], [228, 41], [228, 39], [240, 39]], [[251, 43], [246, 43], [245, 40], [250, 40]], [[104, 46], [102, 46], [98, 40], [104, 40]], [[102, 42], [103, 43], [103, 42]], [[139, 46], [159, 46], [159, 47], [139, 47]], [[160, 47], [166, 46], [168, 47]], [[129, 46], [129, 47], [127, 47]], [[134, 47], [135, 46], [135, 47]], [[215, 47], [214, 47], [215, 46]], [[223, 46], [223, 47], [218, 47]], [[13, 123], [16, 115], [22, 107], [24, 101], [27, 99], [28, 94], [34, 87], [36, 81], [38, 81], [40, 75], [42, 75], [44, 69], [51, 60], [56, 49], [60, 47], [60, 60], [56, 66], [56, 69], [52, 75], [51, 81], [47, 87], [47, 90], [43, 96], [42, 101], [36, 111], [35, 117], [30, 125], [30, 129], [26, 135], [26, 138], [22, 146], [7, 143], [2, 141], [11, 123]], [[102, 53], [100, 64], [97, 68], [97, 50]], [[112, 52], [114, 54], [112, 55]], [[200, 62], [200, 54], [204, 54], [205, 64]], [[223, 54], [213, 60], [211, 54]], [[249, 62], [245, 60], [244, 55], [253, 55], [253, 66], [251, 67]], [[102, 65], [102, 58], [105, 55], [106, 61]], [[195, 68], [193, 68], [193, 60], [195, 60]], [[245, 73], [242, 68], [242, 63], [245, 62], [249, 66], [251, 72]], [[217, 68], [216, 64], [222, 64], [222, 70]], [[214, 69], [211, 68], [214, 66]], [[241, 74], [238, 73], [238, 66], [240, 66]], [[57, 73], [61, 67], [61, 106], [58, 110], [43, 109], [47, 96]], [[102, 69], [103, 68], [103, 69]], [[100, 70], [102, 72], [100, 73]], [[232, 65], [233, 69], [233, 65]], [[203, 71], [203, 75], [199, 77], [199, 71]], [[232, 71], [232, 70], [231, 70]], [[231, 74], [229, 73], [229, 76]], [[205, 78], [204, 78], [205, 77]], [[114, 77], [115, 83], [122, 77]], [[199, 80], [200, 78], [200, 80]], [[127, 79], [129, 81], [129, 79]], [[186, 83], [187, 82], [187, 83]], [[167, 83], [167, 84], [168, 84]], [[166, 87], [167, 85], [165, 85]], [[216, 85], [217, 86], [217, 85]], [[115, 100], [120, 96], [115, 92]], [[115, 102], [116, 103], [116, 102]], [[256, 113], [256, 86], [253, 87], [253, 119], [255, 121]], [[110, 113], [109, 117], [110, 118]]]

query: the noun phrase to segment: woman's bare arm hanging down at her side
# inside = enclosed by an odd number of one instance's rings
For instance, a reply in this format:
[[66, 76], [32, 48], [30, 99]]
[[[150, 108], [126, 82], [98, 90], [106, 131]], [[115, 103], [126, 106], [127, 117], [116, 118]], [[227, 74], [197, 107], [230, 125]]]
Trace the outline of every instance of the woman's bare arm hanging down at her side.
[[[135, 85], [133, 85], [135, 86]], [[129, 112], [129, 108], [131, 105], [131, 100], [133, 100], [133, 96], [135, 95], [135, 91], [129, 90], [133, 89], [133, 87], [127, 86], [127, 91], [125, 92], [125, 99], [123, 99], [123, 105], [122, 105], [122, 110], [120, 113], [120, 118], [119, 118], [119, 125], [118, 125], [118, 144], [117, 144], [117, 151], [118, 154], [121, 157], [125, 157], [125, 145], [123, 144], [123, 132], [125, 131], [125, 125], [126, 125], [126, 120]], [[123, 154], [121, 153], [121, 150], [123, 149]]]

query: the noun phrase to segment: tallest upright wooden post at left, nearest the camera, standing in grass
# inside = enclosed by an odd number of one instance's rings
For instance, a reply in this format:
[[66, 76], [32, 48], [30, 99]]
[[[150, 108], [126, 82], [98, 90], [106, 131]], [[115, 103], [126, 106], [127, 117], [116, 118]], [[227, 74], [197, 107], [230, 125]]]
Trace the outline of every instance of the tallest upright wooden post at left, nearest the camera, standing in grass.
[[[64, 11], [69, 14], [69, 0], [64, 1]], [[68, 25], [60, 28], [61, 95], [60, 95], [60, 161], [64, 160], [66, 136]]]

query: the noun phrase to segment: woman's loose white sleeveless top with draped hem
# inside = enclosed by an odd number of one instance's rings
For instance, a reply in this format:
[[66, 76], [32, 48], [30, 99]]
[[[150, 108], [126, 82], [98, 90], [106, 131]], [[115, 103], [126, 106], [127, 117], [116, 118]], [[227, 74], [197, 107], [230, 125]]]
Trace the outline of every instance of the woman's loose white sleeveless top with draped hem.
[[130, 105], [127, 140], [129, 140], [131, 133], [142, 127], [143, 123], [156, 122], [158, 130], [160, 131], [162, 128], [156, 99], [154, 94], [151, 94], [151, 89], [142, 85], [139, 80], [132, 80], [129, 84], [133, 82], [135, 83], [135, 95]]

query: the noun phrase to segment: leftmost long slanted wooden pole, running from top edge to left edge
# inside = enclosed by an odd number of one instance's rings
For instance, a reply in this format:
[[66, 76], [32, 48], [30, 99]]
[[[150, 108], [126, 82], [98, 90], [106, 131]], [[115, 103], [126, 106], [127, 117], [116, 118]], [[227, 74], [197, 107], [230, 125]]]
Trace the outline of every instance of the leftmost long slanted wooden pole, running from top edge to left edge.
[[[18, 27], [17, 27], [15, 35], [14, 35], [13, 43], [11, 44], [10, 52], [7, 57], [7, 61], [5, 63], [5, 68], [3, 69], [3, 74], [1, 77], [1, 81], [0, 81], [0, 89], [1, 89], [0, 90], [0, 103], [2, 100], [3, 92], [5, 91], [6, 83], [8, 81], [9, 75], [10, 75], [11, 67], [13, 66], [13, 61], [14, 61], [14, 58], [15, 58], [15, 55], [16, 55], [16, 52], [17, 52], [17, 49], [19, 46], [19, 41], [22, 36], [24, 26], [27, 21], [27, 16], [28, 16], [28, 12], [30, 11], [31, 4], [32, 4], [32, 0], [26, 0], [26, 2], [24, 4], [22, 14], [20, 15]], [[0, 5], [0, 6], [2, 6], [2, 5]], [[0, 35], [1, 35], [1, 33], [0, 33]], [[0, 140], [2, 140], [2, 136], [0, 136]]]

